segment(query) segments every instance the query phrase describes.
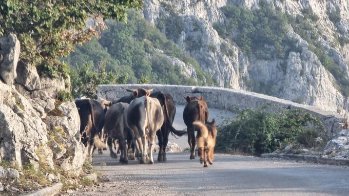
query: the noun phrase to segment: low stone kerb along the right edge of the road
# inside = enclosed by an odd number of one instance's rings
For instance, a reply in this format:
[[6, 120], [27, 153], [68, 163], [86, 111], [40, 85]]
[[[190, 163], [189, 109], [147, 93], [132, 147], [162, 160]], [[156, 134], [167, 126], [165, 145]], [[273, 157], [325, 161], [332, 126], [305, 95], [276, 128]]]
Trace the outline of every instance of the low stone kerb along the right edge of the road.
[[297, 160], [297, 161], [306, 161], [306, 162], [315, 162], [319, 164], [326, 165], [345, 165], [349, 166], [349, 160], [344, 159], [335, 159], [335, 158], [322, 158], [314, 155], [294, 155], [294, 154], [262, 154], [261, 158], [281, 158], [286, 160]]

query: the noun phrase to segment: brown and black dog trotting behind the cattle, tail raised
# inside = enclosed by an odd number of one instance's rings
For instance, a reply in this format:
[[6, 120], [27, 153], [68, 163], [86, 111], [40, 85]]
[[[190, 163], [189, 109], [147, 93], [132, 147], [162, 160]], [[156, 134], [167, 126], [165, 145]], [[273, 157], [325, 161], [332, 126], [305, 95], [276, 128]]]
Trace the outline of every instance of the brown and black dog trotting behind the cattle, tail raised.
[[204, 162], [204, 167], [207, 167], [207, 161], [212, 165], [218, 132], [215, 119], [212, 119], [212, 122], [207, 122], [206, 124], [201, 121], [195, 121], [192, 124], [198, 127], [196, 141], [199, 149], [200, 163]]

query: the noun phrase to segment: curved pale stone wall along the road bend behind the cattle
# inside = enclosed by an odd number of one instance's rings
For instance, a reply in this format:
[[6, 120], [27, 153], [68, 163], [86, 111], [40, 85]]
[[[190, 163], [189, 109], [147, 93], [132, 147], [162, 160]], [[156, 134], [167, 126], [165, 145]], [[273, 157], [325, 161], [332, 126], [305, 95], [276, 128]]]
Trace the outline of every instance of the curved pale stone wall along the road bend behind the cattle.
[[[103, 99], [118, 99], [129, 92], [125, 89], [136, 88], [153, 89], [154, 91], [162, 91], [172, 95], [176, 104], [185, 105], [186, 100], [184, 97], [187, 95], [203, 96], [207, 102], [208, 107], [216, 108], [219, 110], [228, 110], [236, 112], [237, 108], [259, 108], [267, 103], [271, 103], [273, 106], [270, 110], [280, 111], [282, 108], [302, 108], [303, 110], [318, 116], [324, 122], [324, 125], [328, 129], [328, 135], [336, 135], [342, 130], [341, 122], [343, 117], [339, 114], [323, 111], [318, 107], [298, 104], [292, 101], [279, 99], [267, 95], [262, 95], [253, 92], [225, 89], [209, 86], [183, 86], [183, 85], [162, 85], [162, 84], [118, 84], [118, 85], [99, 85], [98, 97]], [[192, 93], [192, 92], [202, 93]]]

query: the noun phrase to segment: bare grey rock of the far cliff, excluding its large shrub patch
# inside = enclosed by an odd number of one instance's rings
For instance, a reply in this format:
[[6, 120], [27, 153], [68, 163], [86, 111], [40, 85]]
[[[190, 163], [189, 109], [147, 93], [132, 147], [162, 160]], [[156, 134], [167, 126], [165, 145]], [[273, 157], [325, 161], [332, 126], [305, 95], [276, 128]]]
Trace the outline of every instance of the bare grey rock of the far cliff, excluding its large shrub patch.
[[[321, 56], [309, 49], [309, 40], [297, 34], [298, 29], [293, 29], [292, 25], [287, 25], [286, 36], [293, 40], [297, 50], [288, 51], [284, 58], [261, 58], [256, 54], [249, 56], [234, 41], [223, 39], [217, 33], [214, 25], [227, 20], [222, 7], [234, 5], [253, 11], [260, 8], [260, 2], [145, 0], [143, 15], [167, 38], [196, 58], [202, 69], [210, 73], [219, 86], [261, 92], [343, 114], [347, 100], [345, 93], [338, 88], [339, 79], [325, 68]], [[313, 13], [317, 19], [310, 25], [319, 34], [316, 41], [323, 48], [322, 53], [333, 60], [336, 69], [341, 70], [342, 79], [348, 80], [349, 41], [341, 41], [349, 39], [347, 1], [263, 2], [294, 18]]]

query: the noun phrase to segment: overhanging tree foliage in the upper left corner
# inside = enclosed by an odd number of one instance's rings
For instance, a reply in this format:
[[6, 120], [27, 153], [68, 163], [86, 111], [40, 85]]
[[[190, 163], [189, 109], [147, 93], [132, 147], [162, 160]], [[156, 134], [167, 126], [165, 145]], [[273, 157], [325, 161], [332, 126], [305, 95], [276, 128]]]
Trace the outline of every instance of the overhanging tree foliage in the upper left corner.
[[3, 0], [0, 36], [15, 33], [21, 42], [21, 60], [43, 66], [39, 71], [56, 77], [61, 71], [59, 57], [98, 35], [100, 29], [86, 28], [87, 18], [125, 20], [127, 8], [139, 9], [141, 4], [141, 0]]

